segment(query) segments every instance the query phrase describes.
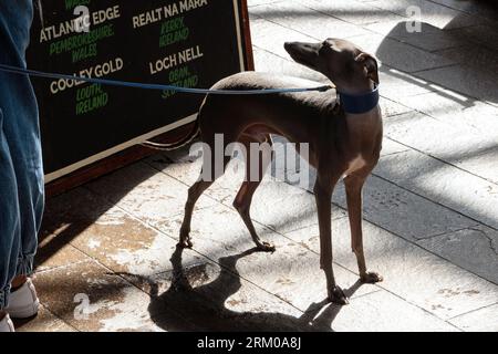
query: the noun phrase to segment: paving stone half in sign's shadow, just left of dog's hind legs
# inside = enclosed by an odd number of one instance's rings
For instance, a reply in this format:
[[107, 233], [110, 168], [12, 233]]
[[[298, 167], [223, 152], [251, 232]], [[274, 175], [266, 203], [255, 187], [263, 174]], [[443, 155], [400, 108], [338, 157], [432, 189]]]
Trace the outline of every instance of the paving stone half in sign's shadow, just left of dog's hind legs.
[[[145, 222], [181, 215], [187, 186], [146, 164], [135, 164], [86, 185], [86, 188]], [[215, 201], [205, 196], [196, 207], [207, 208]]]

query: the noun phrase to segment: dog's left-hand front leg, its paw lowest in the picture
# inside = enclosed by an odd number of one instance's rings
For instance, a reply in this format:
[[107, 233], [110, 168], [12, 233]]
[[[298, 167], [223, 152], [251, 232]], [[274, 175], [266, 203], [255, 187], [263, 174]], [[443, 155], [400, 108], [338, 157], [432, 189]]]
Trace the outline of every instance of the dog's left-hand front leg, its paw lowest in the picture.
[[[320, 174], [319, 174], [320, 175]], [[314, 197], [320, 228], [320, 268], [325, 272], [329, 300], [338, 304], [347, 304], [347, 298], [335, 284], [332, 267], [332, 191], [339, 178], [318, 177], [314, 185]]]

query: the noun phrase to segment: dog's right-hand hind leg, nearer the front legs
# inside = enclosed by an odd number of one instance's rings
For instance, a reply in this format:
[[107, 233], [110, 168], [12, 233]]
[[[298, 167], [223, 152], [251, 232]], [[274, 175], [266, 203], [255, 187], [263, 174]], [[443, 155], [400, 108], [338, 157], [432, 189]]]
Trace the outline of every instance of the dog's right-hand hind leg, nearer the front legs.
[[[246, 156], [246, 180], [242, 183], [242, 186], [239, 189], [235, 200], [234, 207], [239, 212], [240, 217], [243, 220], [249, 233], [251, 235], [252, 241], [256, 243], [260, 250], [267, 252], [273, 252], [274, 246], [269, 242], [261, 241], [258, 233], [256, 232], [255, 225], [252, 223], [250, 217], [250, 208], [252, 196], [255, 195], [256, 189], [261, 184], [261, 180], [264, 176], [264, 173], [268, 169], [268, 166], [271, 164], [272, 159], [272, 146], [271, 138], [267, 135], [262, 139], [250, 138], [249, 136], [242, 135], [239, 139], [246, 146], [247, 156]], [[258, 159], [255, 160], [255, 154], [251, 155], [250, 144], [261, 144], [258, 146]], [[252, 152], [253, 153], [253, 152]], [[252, 168], [258, 168], [258, 171], [253, 171]], [[251, 173], [252, 171], [252, 173]]]

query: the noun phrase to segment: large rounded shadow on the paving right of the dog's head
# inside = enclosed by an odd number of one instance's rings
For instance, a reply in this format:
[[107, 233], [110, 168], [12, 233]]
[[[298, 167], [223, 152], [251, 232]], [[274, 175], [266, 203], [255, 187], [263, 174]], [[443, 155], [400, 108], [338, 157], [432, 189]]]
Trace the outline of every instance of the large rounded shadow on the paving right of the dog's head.
[[[483, 4], [480, 9], [484, 8]], [[414, 31], [408, 31], [413, 21], [398, 22], [375, 51], [376, 58], [385, 64], [380, 70], [388, 76], [454, 101], [461, 110], [473, 107], [477, 101], [498, 103], [498, 45], [486, 40], [484, 30], [478, 31], [474, 27], [460, 28], [463, 18], [467, 15], [455, 17], [443, 29], [418, 22], [419, 29]], [[398, 46], [400, 42], [409, 45]], [[418, 52], [415, 52], [418, 56], [414, 58], [411, 46], [425, 50], [426, 58]], [[412, 64], [415, 66], [411, 67]], [[436, 90], [435, 85], [464, 96]], [[421, 101], [421, 105], [423, 104]]]

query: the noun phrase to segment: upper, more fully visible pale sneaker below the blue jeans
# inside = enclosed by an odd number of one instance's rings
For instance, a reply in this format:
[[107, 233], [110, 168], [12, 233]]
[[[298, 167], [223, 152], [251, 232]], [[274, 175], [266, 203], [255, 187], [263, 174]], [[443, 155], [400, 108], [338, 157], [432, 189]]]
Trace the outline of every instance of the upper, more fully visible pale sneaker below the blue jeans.
[[31, 279], [21, 288], [10, 293], [9, 306], [4, 309], [12, 319], [28, 319], [38, 313], [40, 301]]

